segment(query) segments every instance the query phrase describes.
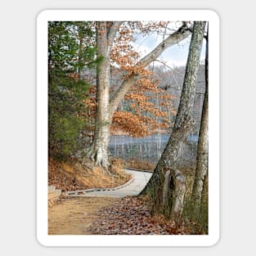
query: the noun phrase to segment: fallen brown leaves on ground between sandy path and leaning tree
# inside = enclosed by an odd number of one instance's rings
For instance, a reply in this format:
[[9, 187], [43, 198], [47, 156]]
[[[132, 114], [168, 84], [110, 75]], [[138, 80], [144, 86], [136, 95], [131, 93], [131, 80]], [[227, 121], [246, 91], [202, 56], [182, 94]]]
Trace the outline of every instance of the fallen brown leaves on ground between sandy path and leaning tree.
[[168, 222], [163, 216], [150, 217], [145, 198], [126, 197], [98, 213], [89, 227], [93, 235], [183, 235], [182, 225]]

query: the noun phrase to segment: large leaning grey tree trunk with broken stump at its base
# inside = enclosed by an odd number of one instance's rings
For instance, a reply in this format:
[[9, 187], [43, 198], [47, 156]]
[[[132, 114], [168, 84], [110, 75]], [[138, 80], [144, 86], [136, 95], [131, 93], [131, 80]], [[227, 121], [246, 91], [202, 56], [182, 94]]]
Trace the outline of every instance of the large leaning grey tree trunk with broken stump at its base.
[[186, 73], [182, 88], [182, 97], [177, 110], [173, 132], [164, 153], [159, 159], [150, 182], [142, 194], [153, 197], [152, 214], [164, 213], [168, 218], [182, 214], [186, 191], [186, 179], [177, 170], [177, 155], [182, 141], [191, 132], [194, 120], [191, 119], [191, 107], [195, 97], [196, 78], [200, 65], [200, 52], [204, 38], [205, 22], [195, 21]]

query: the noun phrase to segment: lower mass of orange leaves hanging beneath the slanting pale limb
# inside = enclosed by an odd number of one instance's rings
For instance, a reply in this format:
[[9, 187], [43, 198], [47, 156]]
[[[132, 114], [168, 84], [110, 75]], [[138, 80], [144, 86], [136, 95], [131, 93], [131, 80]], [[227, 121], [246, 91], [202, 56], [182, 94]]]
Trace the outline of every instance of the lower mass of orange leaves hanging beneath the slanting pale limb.
[[[124, 106], [115, 111], [111, 133], [122, 131], [132, 137], [145, 137], [156, 129], [167, 129], [170, 115], [175, 115], [173, 97], [158, 88], [159, 80], [144, 71], [147, 77], [138, 79], [124, 97]], [[126, 110], [124, 110], [126, 109]]]

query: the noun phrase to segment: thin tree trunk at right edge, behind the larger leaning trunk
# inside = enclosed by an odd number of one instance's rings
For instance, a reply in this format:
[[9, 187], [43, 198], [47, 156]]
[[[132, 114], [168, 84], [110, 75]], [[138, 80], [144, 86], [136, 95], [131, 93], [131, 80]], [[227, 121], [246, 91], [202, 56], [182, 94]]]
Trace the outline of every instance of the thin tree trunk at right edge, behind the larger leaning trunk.
[[195, 180], [192, 191], [192, 199], [195, 205], [195, 213], [200, 210], [200, 202], [203, 194], [205, 177], [208, 175], [208, 40], [205, 54], [205, 94], [204, 105], [201, 117], [200, 136], [197, 146]]

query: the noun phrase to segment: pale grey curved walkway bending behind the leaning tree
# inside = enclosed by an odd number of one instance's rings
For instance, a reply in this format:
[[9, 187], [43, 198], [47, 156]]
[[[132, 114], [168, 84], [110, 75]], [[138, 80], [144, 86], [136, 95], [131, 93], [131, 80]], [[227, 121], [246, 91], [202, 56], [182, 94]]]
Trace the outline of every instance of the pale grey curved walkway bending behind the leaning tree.
[[132, 181], [128, 182], [124, 186], [119, 186], [113, 189], [91, 189], [83, 191], [69, 191], [66, 195], [69, 196], [106, 196], [106, 197], [124, 197], [126, 195], [138, 195], [143, 188], [146, 186], [147, 182], [150, 180], [152, 173], [135, 171], [130, 169], [125, 169], [125, 172], [132, 174]]

